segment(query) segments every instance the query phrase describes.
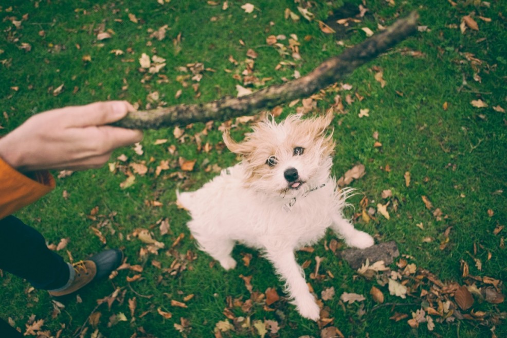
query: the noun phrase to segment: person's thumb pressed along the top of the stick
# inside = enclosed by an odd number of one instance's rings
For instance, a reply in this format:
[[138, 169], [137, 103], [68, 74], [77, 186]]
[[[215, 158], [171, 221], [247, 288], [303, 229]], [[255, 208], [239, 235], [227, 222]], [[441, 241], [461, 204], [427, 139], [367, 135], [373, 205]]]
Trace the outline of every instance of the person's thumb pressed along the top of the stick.
[[[64, 109], [70, 109], [70, 107]], [[71, 127], [82, 128], [116, 122], [125, 117], [129, 111], [134, 111], [134, 107], [129, 102], [105, 101], [72, 107], [67, 116]]]

